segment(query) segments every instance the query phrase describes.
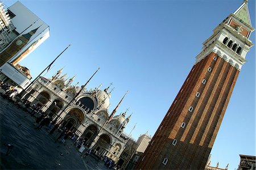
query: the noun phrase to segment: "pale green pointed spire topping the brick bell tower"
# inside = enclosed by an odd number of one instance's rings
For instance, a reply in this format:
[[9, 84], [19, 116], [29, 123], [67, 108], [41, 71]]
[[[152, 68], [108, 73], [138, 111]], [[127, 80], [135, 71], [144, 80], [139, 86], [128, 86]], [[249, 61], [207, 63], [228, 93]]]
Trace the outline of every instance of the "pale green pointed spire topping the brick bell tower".
[[249, 24], [251, 26], [250, 14], [247, 6], [247, 1], [244, 1], [242, 5], [234, 12], [238, 18], [242, 19], [243, 22]]

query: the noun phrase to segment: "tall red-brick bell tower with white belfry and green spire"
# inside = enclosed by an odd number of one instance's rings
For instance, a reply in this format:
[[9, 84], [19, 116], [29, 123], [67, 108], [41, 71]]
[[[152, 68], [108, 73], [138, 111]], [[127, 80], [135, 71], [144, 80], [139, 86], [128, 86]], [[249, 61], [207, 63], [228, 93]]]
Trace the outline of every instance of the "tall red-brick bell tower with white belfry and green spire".
[[213, 30], [136, 169], [204, 169], [253, 43], [247, 1]]

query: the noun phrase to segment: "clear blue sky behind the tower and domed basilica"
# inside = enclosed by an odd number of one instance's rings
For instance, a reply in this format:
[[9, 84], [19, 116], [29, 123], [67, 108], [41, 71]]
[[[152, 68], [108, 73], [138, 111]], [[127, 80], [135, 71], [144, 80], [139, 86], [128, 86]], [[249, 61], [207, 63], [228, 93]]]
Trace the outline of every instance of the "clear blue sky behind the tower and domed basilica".
[[[50, 27], [50, 37], [20, 64], [32, 77], [55, 62], [46, 77], [62, 67], [67, 77], [88, 89], [113, 82], [110, 112], [133, 113], [125, 131], [154, 135], [195, 64], [212, 30], [242, 4], [233, 1], [20, 1]], [[15, 1], [4, 1], [7, 6]], [[249, 1], [255, 27], [255, 1]], [[255, 43], [255, 33], [251, 35]], [[255, 155], [255, 47], [246, 56], [212, 149], [212, 165], [238, 167], [240, 156]]]

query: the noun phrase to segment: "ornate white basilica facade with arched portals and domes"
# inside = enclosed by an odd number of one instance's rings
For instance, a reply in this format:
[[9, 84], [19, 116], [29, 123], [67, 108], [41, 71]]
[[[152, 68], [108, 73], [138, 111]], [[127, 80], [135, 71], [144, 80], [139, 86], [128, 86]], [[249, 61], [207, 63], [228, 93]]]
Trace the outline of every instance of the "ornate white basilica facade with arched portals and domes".
[[61, 74], [62, 71], [57, 71], [51, 79], [41, 76], [23, 98], [40, 106], [53, 121], [61, 122], [63, 127], [85, 139], [98, 155], [118, 161], [128, 140], [123, 130], [131, 115], [126, 117], [125, 112], [109, 119], [109, 87], [100, 90], [100, 85], [88, 90], [71, 85], [75, 76], [66, 79], [67, 74]]

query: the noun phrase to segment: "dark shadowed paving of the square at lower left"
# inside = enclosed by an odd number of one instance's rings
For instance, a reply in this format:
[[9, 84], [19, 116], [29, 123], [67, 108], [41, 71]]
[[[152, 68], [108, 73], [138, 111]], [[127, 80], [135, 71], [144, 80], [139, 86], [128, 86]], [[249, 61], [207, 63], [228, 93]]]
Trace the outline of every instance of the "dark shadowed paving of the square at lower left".
[[[102, 160], [81, 158], [71, 139], [55, 143], [46, 128], [35, 129], [35, 119], [0, 96], [1, 169], [107, 169]], [[6, 155], [8, 144], [13, 145]]]

